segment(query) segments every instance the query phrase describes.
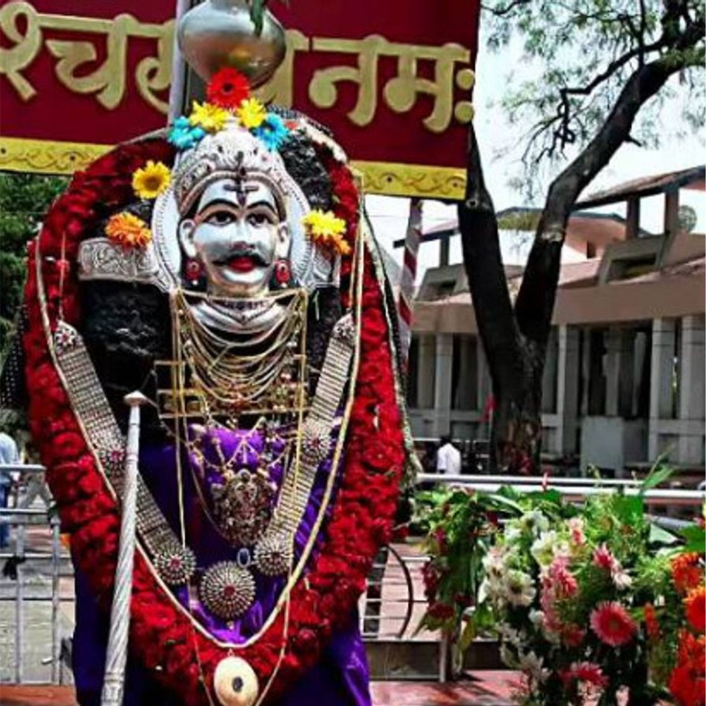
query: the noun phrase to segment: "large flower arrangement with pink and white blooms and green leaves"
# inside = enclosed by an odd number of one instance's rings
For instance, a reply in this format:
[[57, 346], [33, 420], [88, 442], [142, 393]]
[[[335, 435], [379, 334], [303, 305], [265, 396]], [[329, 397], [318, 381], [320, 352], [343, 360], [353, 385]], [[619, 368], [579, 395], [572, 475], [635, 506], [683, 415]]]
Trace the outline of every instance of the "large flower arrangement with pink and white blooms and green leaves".
[[[654, 471], [645, 490], [668, 473]], [[434, 520], [424, 624], [445, 629], [461, 649], [479, 634], [496, 635], [504, 664], [521, 674], [520, 704], [648, 706], [669, 700], [670, 685], [674, 691], [687, 672], [706, 687], [706, 581], [698, 555], [688, 555], [698, 580], [690, 565], [685, 593], [673, 577], [688, 561], [680, 539], [650, 521], [642, 495], [605, 493], [575, 507], [551, 491], [455, 491]], [[703, 611], [700, 632], [684, 630], [689, 605]], [[690, 671], [676, 671], [687, 659]], [[702, 701], [678, 702], [706, 705], [706, 688], [702, 693]]]

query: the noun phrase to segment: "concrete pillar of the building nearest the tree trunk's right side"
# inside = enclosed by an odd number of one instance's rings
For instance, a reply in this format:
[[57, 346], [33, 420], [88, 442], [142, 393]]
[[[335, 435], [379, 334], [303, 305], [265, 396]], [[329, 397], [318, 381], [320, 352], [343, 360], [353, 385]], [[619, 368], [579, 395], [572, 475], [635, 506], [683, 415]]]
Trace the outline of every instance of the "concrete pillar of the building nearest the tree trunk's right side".
[[576, 449], [576, 425], [578, 423], [579, 388], [579, 329], [561, 326], [558, 330], [558, 366], [556, 413], [559, 417], [557, 448], [564, 454]]

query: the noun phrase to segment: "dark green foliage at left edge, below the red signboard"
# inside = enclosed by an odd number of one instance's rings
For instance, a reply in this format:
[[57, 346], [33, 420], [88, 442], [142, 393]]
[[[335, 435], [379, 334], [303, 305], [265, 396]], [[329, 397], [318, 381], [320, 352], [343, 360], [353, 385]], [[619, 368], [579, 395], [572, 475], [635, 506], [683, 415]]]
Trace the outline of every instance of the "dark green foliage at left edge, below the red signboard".
[[0, 174], [0, 360], [22, 300], [27, 242], [65, 183], [57, 177]]

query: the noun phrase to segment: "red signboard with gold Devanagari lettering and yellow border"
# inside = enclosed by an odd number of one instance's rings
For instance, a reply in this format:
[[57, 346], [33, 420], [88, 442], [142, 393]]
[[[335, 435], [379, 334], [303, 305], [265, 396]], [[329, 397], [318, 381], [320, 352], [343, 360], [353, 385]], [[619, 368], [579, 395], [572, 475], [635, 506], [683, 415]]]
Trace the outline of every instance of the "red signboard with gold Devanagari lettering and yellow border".
[[[0, 6], [0, 169], [70, 172], [164, 127], [175, 4]], [[369, 191], [460, 196], [479, 1], [271, 5], [289, 52], [265, 98], [333, 129]]]

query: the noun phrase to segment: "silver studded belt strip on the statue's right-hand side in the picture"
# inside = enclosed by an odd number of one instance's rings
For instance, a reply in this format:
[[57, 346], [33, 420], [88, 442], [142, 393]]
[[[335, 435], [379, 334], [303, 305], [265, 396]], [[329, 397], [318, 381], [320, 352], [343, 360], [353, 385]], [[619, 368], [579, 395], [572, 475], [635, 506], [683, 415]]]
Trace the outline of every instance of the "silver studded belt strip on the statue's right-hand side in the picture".
[[285, 476], [275, 517], [256, 546], [256, 565], [265, 575], [287, 572], [285, 565], [292, 556], [294, 536], [306, 512], [318, 467], [330, 453], [331, 431], [348, 382], [355, 337], [353, 317], [347, 314], [335, 325], [326, 351], [316, 396], [302, 431], [299, 467]]

